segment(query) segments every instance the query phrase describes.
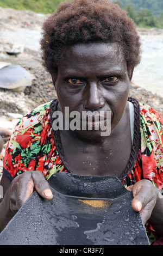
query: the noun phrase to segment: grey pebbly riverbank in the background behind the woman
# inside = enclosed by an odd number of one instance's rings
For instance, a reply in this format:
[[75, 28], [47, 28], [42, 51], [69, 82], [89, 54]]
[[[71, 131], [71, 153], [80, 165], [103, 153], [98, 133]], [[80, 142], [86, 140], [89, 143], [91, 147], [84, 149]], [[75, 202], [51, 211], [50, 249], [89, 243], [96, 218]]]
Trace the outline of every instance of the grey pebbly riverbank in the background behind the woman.
[[[15, 28], [41, 29], [42, 22], [47, 16], [38, 16], [32, 11], [16, 11], [0, 7], [0, 30], [6, 31], [6, 33], [9, 33], [9, 31], [15, 31], [16, 33]], [[158, 29], [152, 31], [139, 29], [139, 33], [163, 34]], [[39, 51], [31, 50], [28, 45], [25, 45], [21, 54], [11, 56], [7, 54], [6, 49], [12, 47], [12, 39], [5, 41], [1, 38], [1, 35], [0, 46], [2, 46], [2, 48], [0, 47], [0, 62], [21, 65], [35, 76], [31, 86], [14, 90], [0, 88], [0, 128], [7, 128], [12, 131], [23, 114], [42, 103], [53, 100], [57, 95], [51, 76], [41, 65]], [[152, 94], [152, 92], [131, 83], [130, 96], [151, 105], [163, 114], [163, 99], [159, 95]], [[0, 172], [2, 170], [4, 150], [5, 145], [0, 154]]]

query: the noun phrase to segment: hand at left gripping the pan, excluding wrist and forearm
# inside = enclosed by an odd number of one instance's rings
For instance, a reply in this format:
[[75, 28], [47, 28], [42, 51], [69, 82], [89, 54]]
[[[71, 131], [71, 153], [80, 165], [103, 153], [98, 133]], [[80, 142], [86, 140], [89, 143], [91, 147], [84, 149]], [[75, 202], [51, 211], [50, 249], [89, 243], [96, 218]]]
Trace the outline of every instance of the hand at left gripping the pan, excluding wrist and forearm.
[[11, 211], [16, 214], [35, 190], [45, 199], [53, 198], [52, 191], [42, 172], [35, 170], [18, 175], [11, 182], [9, 188]]

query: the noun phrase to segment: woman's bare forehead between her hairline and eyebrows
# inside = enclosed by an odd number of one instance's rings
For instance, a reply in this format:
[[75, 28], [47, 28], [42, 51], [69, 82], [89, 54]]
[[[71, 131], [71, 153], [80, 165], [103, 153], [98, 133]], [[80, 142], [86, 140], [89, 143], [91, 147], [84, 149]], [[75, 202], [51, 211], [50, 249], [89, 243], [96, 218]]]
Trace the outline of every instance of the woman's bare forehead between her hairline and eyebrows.
[[126, 69], [123, 51], [117, 43], [93, 42], [67, 47], [58, 70]]

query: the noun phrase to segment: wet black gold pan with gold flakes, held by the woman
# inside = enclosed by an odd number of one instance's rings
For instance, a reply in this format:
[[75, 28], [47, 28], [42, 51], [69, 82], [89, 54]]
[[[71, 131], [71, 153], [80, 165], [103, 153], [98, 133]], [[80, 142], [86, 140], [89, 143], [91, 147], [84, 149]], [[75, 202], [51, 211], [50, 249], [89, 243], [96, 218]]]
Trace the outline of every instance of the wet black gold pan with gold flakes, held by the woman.
[[149, 245], [133, 195], [112, 176], [53, 174], [52, 200], [34, 192], [0, 234], [0, 245]]

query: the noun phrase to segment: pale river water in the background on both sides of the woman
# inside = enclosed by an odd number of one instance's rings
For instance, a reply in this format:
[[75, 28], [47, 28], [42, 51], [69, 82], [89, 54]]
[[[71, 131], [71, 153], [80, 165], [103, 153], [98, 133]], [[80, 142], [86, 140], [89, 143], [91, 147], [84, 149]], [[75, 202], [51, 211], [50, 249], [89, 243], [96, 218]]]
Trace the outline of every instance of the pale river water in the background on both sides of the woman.
[[[31, 50], [39, 50], [39, 30], [17, 28], [15, 31], [3, 31], [0, 39], [8, 42], [24, 44]], [[141, 34], [142, 60], [135, 68], [133, 82], [142, 88], [158, 93], [163, 97], [163, 30], [161, 33], [149, 31]]]

